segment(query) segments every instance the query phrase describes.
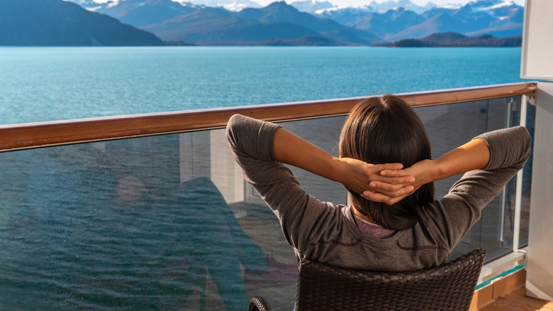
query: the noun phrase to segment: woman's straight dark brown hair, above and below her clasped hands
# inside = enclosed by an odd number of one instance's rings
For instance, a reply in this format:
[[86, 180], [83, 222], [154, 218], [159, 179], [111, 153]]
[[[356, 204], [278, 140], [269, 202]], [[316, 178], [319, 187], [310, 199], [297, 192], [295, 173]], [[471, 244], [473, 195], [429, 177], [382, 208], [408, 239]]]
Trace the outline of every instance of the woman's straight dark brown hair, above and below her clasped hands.
[[[403, 99], [384, 95], [365, 99], [350, 111], [340, 135], [340, 156], [372, 164], [402, 163], [408, 168], [432, 155], [423, 122], [415, 111]], [[346, 189], [359, 212], [393, 230], [415, 226], [418, 209], [434, 201], [433, 182], [392, 205], [366, 200]]]

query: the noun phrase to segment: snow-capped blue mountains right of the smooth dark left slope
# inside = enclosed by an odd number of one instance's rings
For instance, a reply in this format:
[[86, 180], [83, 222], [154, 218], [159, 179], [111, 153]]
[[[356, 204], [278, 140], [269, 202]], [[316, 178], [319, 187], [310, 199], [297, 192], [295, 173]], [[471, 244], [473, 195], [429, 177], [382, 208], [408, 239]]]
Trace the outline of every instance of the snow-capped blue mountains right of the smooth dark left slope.
[[[445, 6], [389, 0], [355, 8], [314, 0], [281, 1], [265, 7], [250, 0], [192, 0], [195, 4], [184, 0], [67, 1], [118, 18], [162, 40], [206, 45], [252, 45], [304, 37], [333, 45], [372, 45], [445, 32], [522, 36], [524, 11], [514, 1], [505, 0]], [[216, 4], [218, 7], [213, 7]], [[237, 7], [241, 9], [228, 9]]]

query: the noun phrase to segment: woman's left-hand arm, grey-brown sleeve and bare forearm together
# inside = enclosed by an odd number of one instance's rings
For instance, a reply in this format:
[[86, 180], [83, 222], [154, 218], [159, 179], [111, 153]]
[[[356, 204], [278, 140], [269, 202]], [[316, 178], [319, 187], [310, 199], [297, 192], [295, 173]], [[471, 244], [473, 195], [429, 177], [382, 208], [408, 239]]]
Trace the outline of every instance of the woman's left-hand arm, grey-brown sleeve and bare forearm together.
[[[255, 187], [277, 215], [286, 241], [300, 252], [308, 248], [313, 241], [318, 241], [320, 236], [326, 233], [326, 228], [333, 226], [331, 223], [335, 221], [340, 209], [330, 208], [333, 207], [332, 203], [320, 202], [308, 195], [291, 170], [282, 163], [295, 165], [324, 178], [344, 182], [359, 192], [369, 189], [368, 180], [372, 177], [381, 178], [378, 172], [386, 167], [381, 165], [381, 168], [373, 168], [378, 165], [369, 165], [358, 160], [337, 159], [281, 129], [277, 124], [238, 114], [228, 121], [226, 136], [245, 180]], [[359, 178], [358, 175], [366, 177]], [[396, 180], [401, 180], [401, 176]], [[403, 195], [403, 192], [399, 195]]]

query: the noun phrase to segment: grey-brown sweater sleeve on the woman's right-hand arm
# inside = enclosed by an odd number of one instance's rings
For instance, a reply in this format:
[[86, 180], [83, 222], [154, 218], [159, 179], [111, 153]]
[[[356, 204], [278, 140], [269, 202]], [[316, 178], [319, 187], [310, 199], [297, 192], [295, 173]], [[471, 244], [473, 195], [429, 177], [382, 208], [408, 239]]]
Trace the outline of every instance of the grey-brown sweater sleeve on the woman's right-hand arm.
[[423, 207], [421, 220], [435, 232], [435, 238], [451, 251], [480, 219], [481, 210], [523, 168], [530, 155], [531, 138], [523, 126], [484, 133], [490, 150], [486, 168], [471, 170], [455, 182], [448, 194]]

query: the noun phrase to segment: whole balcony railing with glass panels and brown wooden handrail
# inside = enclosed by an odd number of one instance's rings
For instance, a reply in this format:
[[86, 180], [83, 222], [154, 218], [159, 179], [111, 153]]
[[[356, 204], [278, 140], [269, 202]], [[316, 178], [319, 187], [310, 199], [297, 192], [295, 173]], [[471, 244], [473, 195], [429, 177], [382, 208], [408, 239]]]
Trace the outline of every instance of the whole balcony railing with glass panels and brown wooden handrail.
[[[523, 124], [533, 133], [526, 99], [535, 89], [401, 97], [425, 123], [436, 158], [493, 129]], [[223, 126], [235, 113], [277, 121], [336, 153], [359, 99], [0, 126], [0, 305], [245, 310], [262, 294], [291, 310], [294, 253], [242, 179]], [[489, 261], [527, 243], [531, 168], [488, 204], [452, 256], [484, 247]], [[315, 197], [345, 202], [341, 185], [293, 170]], [[436, 182], [436, 195], [454, 180]]]

